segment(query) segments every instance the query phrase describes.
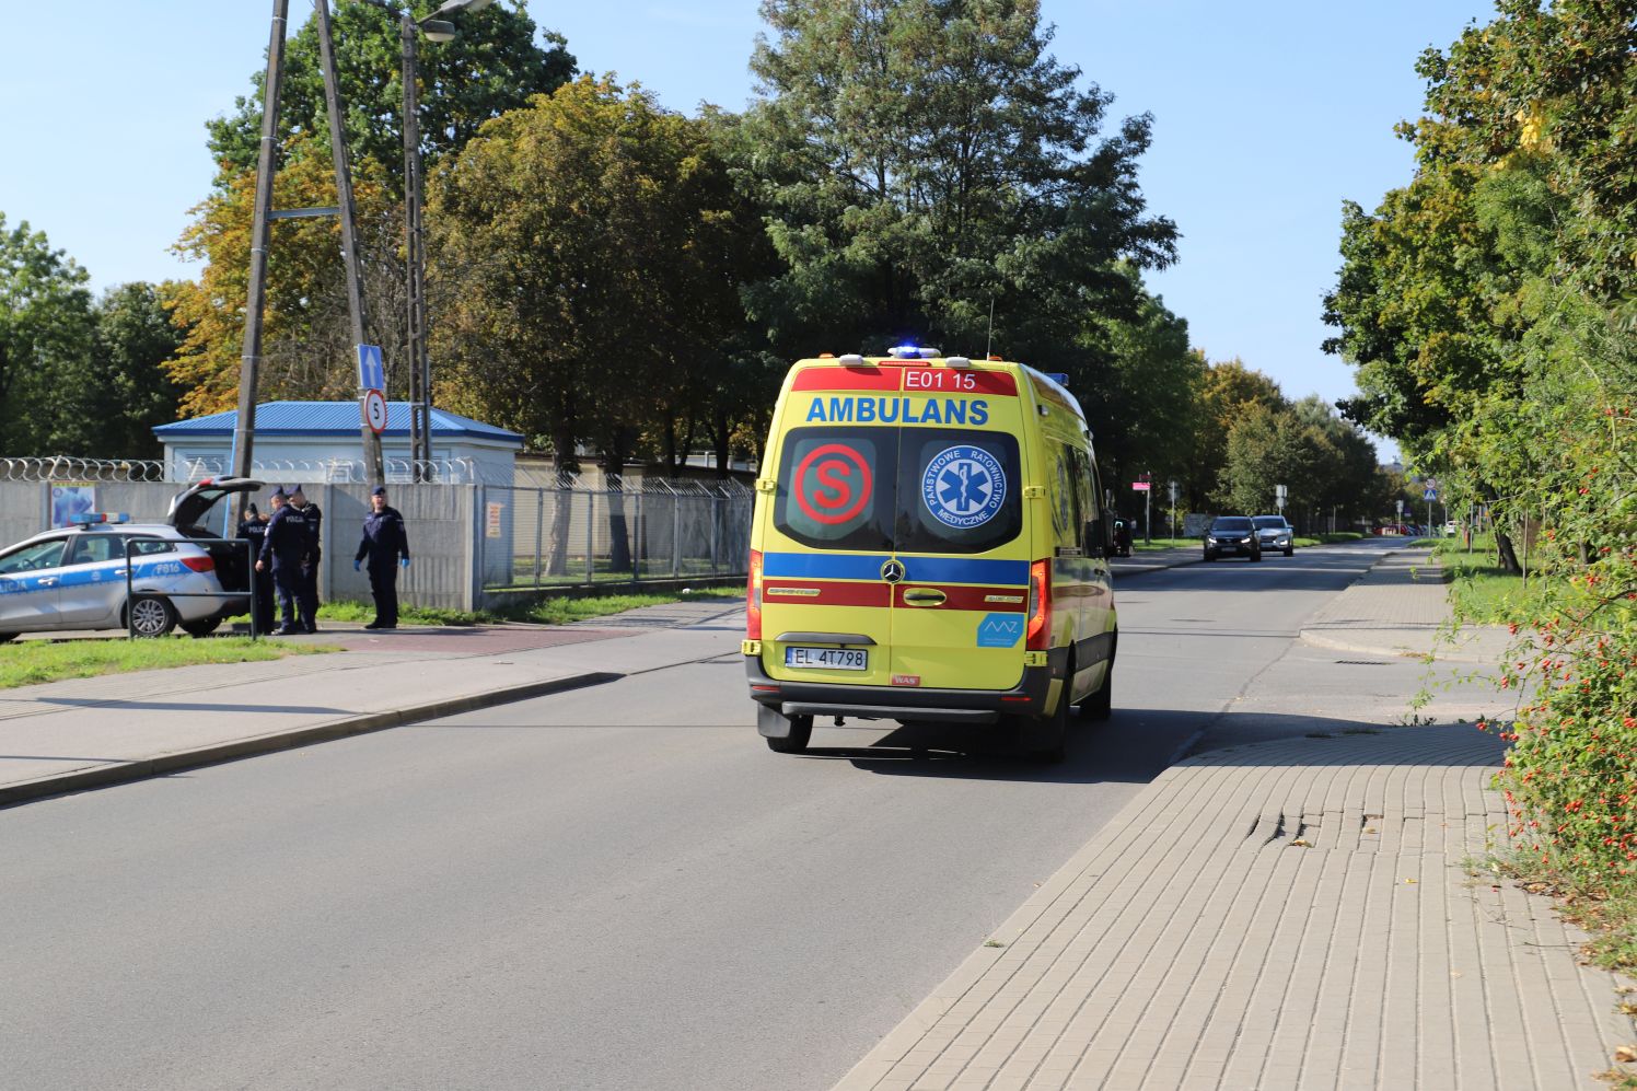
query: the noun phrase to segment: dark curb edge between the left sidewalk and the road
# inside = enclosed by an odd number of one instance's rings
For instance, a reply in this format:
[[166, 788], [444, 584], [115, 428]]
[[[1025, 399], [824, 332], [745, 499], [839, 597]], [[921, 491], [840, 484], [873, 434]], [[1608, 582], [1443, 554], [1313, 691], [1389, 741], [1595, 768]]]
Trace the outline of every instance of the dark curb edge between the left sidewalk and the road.
[[39, 780], [26, 780], [0, 786], [0, 808], [29, 803], [44, 796], [62, 796], [74, 791], [87, 791], [90, 788], [106, 788], [111, 785], [147, 780], [149, 776], [159, 776], [162, 773], [177, 773], [190, 768], [203, 768], [206, 765], [221, 765], [223, 762], [236, 762], [239, 758], [257, 757], [260, 754], [293, 750], [316, 742], [332, 742], [350, 736], [370, 734], [372, 731], [401, 727], [422, 719], [473, 713], [476, 709], [493, 708], [496, 704], [511, 704], [512, 701], [527, 701], [530, 698], [547, 696], [552, 693], [599, 686], [609, 681], [619, 681], [624, 677], [625, 675], [611, 672], [566, 675], [563, 678], [529, 681], [519, 686], [506, 686], [504, 690], [491, 690], [488, 693], [445, 698], [442, 701], [427, 701], [424, 704], [411, 704], [408, 708], [332, 719], [308, 727], [295, 727], [291, 731], [277, 731], [265, 736], [252, 736], [249, 739], [218, 742], [193, 750], [175, 750], [172, 754], [160, 754], [157, 757], [141, 758], [136, 762], [120, 762], [98, 768], [41, 776]]

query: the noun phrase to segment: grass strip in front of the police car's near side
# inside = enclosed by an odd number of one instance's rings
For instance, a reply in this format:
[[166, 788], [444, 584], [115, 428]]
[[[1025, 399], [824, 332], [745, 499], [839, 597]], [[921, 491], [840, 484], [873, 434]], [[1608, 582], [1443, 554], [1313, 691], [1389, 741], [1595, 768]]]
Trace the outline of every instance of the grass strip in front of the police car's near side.
[[95, 678], [133, 670], [252, 663], [283, 655], [327, 652], [327, 647], [250, 641], [249, 637], [160, 637], [157, 641], [20, 641], [0, 647], [0, 690], [64, 678]]

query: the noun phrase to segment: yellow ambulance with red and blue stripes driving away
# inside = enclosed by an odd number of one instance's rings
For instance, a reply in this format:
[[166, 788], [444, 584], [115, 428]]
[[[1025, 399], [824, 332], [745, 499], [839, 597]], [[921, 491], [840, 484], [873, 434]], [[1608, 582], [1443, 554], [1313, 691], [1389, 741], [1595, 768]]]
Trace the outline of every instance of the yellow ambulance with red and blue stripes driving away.
[[1064, 754], [1110, 713], [1118, 624], [1092, 434], [1062, 377], [899, 347], [799, 360], [751, 527], [756, 727], [990, 724]]

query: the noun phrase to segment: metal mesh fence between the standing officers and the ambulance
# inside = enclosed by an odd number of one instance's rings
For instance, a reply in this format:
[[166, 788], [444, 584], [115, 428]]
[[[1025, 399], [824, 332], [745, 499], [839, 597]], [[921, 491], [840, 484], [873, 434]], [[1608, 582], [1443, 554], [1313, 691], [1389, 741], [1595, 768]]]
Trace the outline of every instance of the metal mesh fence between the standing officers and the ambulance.
[[480, 487], [485, 591], [745, 575], [755, 491], [738, 482], [609, 478]]

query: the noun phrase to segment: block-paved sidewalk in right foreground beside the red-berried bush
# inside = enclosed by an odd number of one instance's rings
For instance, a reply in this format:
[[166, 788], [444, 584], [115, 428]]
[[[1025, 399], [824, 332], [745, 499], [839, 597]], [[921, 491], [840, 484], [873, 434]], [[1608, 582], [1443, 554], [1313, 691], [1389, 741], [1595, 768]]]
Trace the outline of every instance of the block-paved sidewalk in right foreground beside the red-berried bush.
[[1172, 767], [838, 1088], [1604, 1086], [1619, 981], [1463, 867], [1499, 754], [1401, 727]]

